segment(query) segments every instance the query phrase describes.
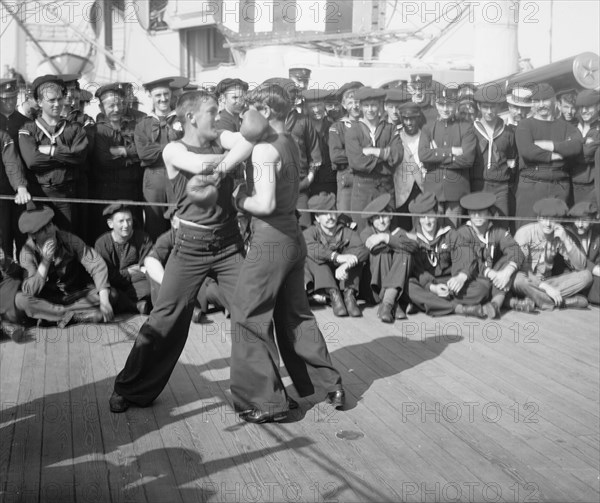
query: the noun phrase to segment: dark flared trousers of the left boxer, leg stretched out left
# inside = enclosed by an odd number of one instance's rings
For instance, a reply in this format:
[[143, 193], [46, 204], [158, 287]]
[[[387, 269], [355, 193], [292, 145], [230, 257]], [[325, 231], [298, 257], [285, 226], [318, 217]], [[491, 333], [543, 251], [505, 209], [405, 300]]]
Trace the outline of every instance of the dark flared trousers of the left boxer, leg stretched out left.
[[233, 297], [242, 265], [241, 237], [238, 233], [236, 241], [220, 242], [223, 246], [203, 229], [185, 225], [177, 229], [156, 304], [115, 381], [115, 391], [130, 402], [150, 405], [167, 385], [207, 274], [216, 274], [227, 300]]

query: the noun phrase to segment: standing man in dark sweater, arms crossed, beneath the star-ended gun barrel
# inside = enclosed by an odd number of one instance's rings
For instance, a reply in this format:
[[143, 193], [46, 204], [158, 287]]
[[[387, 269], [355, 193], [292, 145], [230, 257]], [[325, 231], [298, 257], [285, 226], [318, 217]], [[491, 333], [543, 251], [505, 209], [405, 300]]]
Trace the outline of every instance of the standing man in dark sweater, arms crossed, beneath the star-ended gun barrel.
[[552, 86], [538, 84], [532, 95], [533, 115], [517, 126], [519, 217], [535, 216], [533, 205], [541, 199], [555, 197], [566, 203], [569, 198], [569, 161], [581, 153], [581, 134], [568, 122], [555, 120], [555, 105]]

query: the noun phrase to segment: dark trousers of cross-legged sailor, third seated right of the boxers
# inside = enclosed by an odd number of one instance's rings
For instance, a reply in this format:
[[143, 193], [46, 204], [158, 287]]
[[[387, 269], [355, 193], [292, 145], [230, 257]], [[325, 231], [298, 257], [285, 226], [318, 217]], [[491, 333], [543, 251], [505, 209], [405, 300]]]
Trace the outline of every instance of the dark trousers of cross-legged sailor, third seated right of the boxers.
[[[436, 278], [437, 283], [446, 283], [449, 279], [450, 276]], [[431, 316], [452, 314], [459, 304], [465, 306], [483, 304], [489, 299], [490, 291], [491, 283], [483, 278], [468, 281], [458, 295], [446, 299], [422, 287], [416, 278], [410, 279], [408, 287], [408, 295], [413, 304]]]

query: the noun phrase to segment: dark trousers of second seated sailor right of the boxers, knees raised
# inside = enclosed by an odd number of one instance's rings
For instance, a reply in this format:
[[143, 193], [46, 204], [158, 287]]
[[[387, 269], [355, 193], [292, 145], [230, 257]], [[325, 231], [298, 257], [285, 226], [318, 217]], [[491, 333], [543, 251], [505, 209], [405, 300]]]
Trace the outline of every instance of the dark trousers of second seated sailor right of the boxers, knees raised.
[[411, 255], [405, 252], [385, 251], [369, 255], [371, 268], [371, 290], [376, 302], [381, 302], [380, 293], [386, 288], [396, 288], [398, 298], [406, 290], [411, 272]]

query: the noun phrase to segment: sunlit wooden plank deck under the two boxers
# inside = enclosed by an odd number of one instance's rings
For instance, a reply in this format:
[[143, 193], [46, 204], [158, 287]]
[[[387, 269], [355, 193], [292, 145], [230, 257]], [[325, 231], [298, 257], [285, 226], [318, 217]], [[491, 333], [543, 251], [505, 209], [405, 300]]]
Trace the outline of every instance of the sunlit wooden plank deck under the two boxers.
[[153, 407], [120, 415], [108, 397], [143, 317], [3, 339], [0, 498], [599, 500], [597, 308], [393, 326], [374, 308], [360, 320], [315, 313], [349, 404], [300, 400], [280, 424], [233, 412], [222, 314], [192, 326]]

